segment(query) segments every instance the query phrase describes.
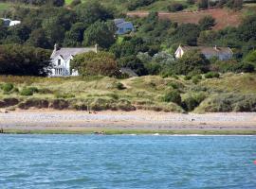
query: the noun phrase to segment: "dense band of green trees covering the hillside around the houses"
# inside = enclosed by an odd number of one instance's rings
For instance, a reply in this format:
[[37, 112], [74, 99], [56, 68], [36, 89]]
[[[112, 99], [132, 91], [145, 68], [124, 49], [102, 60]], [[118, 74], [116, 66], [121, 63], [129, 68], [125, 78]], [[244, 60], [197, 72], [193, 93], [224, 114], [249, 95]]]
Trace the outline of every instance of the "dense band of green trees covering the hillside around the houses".
[[[116, 36], [113, 19], [118, 14], [97, 2], [79, 3], [72, 9], [16, 8], [9, 12], [9, 17], [21, 20], [22, 24], [6, 27], [0, 22], [0, 44], [7, 44], [5, 49], [10, 50], [9, 46], [14, 43], [45, 49], [52, 49], [54, 43], [69, 47], [98, 43], [101, 49], [115, 56], [113, 60], [118, 67], [129, 67], [139, 76], [254, 70], [255, 55], [252, 52], [256, 49], [256, 15], [247, 16], [238, 27], [212, 30], [215, 20], [210, 16], [202, 18], [198, 24], [178, 25], [159, 19], [158, 14], [152, 12], [146, 18], [130, 19], [137, 27], [136, 32]], [[179, 44], [229, 46], [234, 52], [234, 59], [225, 63], [206, 60], [196, 52], [174, 60], [174, 51]], [[18, 59], [16, 55], [19, 54], [11, 54], [13, 59]], [[11, 73], [8, 71], [6, 74]], [[21, 72], [20, 75], [24, 74]]]

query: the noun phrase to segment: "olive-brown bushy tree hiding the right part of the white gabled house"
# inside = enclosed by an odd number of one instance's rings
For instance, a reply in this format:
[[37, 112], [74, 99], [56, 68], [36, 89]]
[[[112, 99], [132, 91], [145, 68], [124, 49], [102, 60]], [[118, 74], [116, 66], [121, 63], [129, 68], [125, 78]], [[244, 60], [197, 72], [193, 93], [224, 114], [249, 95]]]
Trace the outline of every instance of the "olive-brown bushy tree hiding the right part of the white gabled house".
[[103, 51], [77, 55], [71, 61], [71, 67], [78, 70], [82, 76], [119, 76], [119, 67], [115, 56]]

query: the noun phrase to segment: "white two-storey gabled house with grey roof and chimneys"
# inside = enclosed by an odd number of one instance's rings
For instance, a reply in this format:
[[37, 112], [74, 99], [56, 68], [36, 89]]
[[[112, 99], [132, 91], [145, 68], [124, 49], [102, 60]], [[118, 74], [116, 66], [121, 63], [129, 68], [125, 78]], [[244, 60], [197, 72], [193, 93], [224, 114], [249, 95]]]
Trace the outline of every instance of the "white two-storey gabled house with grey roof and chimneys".
[[77, 70], [71, 70], [70, 61], [78, 54], [86, 52], [98, 52], [98, 45], [95, 47], [86, 48], [59, 48], [57, 44], [54, 45], [53, 52], [50, 56], [52, 63], [49, 77], [69, 77], [79, 76]]

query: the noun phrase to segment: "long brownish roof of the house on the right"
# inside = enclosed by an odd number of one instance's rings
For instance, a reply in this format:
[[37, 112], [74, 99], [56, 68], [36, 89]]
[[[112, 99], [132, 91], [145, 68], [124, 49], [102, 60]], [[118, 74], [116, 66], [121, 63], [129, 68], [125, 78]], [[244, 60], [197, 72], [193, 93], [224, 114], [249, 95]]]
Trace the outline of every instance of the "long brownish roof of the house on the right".
[[191, 50], [200, 50], [202, 54], [218, 55], [218, 54], [233, 54], [229, 47], [212, 47], [212, 46], [181, 46], [184, 52]]

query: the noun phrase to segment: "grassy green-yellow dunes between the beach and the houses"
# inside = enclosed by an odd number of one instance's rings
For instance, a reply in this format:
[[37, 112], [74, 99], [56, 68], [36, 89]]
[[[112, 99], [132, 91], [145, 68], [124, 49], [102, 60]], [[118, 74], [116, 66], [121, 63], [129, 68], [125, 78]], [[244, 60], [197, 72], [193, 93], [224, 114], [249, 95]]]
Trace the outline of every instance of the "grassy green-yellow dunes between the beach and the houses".
[[[204, 77], [204, 76], [203, 76]], [[252, 74], [225, 74], [203, 78], [197, 84], [179, 77], [0, 77], [0, 83], [12, 83], [10, 92], [0, 91], [0, 107], [11, 109], [53, 108], [57, 110], [151, 110], [185, 112], [183, 105], [164, 100], [179, 91], [188, 106], [201, 99], [194, 112], [250, 112], [256, 106], [256, 77]], [[24, 89], [36, 88], [32, 95]], [[190, 99], [187, 100], [186, 99]], [[202, 101], [202, 102], [201, 102]], [[195, 102], [194, 102], [195, 103]]]

